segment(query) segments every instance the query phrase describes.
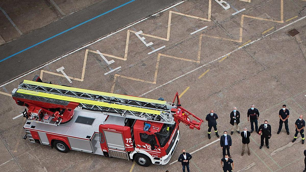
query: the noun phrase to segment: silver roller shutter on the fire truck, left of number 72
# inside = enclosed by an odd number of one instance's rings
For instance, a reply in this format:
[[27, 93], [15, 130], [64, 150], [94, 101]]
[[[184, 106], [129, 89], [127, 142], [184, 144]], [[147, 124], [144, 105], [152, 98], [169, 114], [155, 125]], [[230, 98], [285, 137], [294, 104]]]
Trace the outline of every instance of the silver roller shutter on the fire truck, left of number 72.
[[115, 133], [109, 131], [103, 131], [103, 132], [106, 138], [107, 147], [125, 150], [125, 145], [121, 133]]

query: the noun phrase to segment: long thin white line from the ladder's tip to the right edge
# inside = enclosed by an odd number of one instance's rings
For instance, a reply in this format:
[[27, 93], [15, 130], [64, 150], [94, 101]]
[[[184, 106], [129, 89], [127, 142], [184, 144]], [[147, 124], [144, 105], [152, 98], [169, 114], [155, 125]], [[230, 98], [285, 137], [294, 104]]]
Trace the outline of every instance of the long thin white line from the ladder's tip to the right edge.
[[[189, 71], [189, 72], [187, 72], [187, 73], [185, 73], [185, 74], [183, 74], [183, 75], [181, 75], [181, 76], [179, 76], [179, 77], [176, 77], [176, 78], [174, 78], [174, 79], [172, 79], [172, 80], [170, 80], [170, 81], [168, 81], [168, 82], [166, 82], [166, 83], [164, 83], [164, 84], [162, 84], [162, 85], [159, 85], [158, 87], [155, 87], [155, 88], [151, 89], [150, 91], [145, 92], [144, 94], [140, 95], [139, 97], [144, 96], [144, 95], [146, 95], [146, 94], [148, 94], [148, 93], [150, 93], [150, 92], [152, 92], [152, 91], [154, 91], [154, 90], [156, 90], [156, 89], [158, 89], [158, 88], [160, 88], [160, 87], [162, 87], [162, 86], [164, 86], [164, 85], [170, 84], [171, 82], [173, 82], [173, 81], [175, 81], [175, 80], [177, 80], [177, 79], [179, 79], [179, 78], [181, 78], [181, 77], [184, 77], [184, 76], [188, 75], [189, 73], [192, 73], [192, 72], [194, 72], [194, 71], [196, 71], [196, 70], [198, 70], [198, 69], [201, 69], [201, 68], [204, 67], [204, 66], [207, 66], [207, 65], [209, 65], [209, 64], [211, 64], [211, 63], [213, 63], [213, 62], [215, 62], [215, 61], [217, 61], [217, 60], [219, 60], [219, 59], [221, 59], [221, 58], [223, 58], [223, 57], [225, 57], [225, 56], [227, 56], [227, 55], [232, 54], [233, 52], [235, 52], [235, 51], [237, 51], [237, 50], [240, 50], [240, 49], [242, 49], [242, 48], [244, 48], [244, 47], [246, 47], [246, 46], [248, 46], [248, 45], [251, 45], [251, 44], [253, 44], [253, 43], [255, 43], [255, 42], [257, 42], [257, 41], [259, 41], [259, 40], [261, 40], [261, 39], [263, 39], [263, 38], [265, 38], [265, 37], [267, 37], [267, 36], [269, 36], [269, 35], [271, 35], [271, 34], [273, 34], [273, 33], [278, 32], [279, 30], [282, 30], [283, 28], [286, 28], [286, 27], [290, 26], [291, 24], [294, 24], [294, 23], [296, 23], [296, 22], [298, 22], [298, 21], [300, 21], [300, 20], [303, 20], [304, 18], [306, 18], [306, 16], [301, 17], [301, 18], [299, 18], [299, 19], [297, 19], [297, 20], [295, 20], [295, 21], [293, 21], [293, 22], [291, 22], [291, 23], [289, 23], [289, 24], [286, 24], [285, 26], [283, 26], [283, 27], [281, 27], [281, 28], [278, 28], [277, 30], [274, 30], [274, 31], [271, 32], [271, 33], [268, 33], [267, 35], [264, 35], [264, 36], [262, 36], [262, 37], [260, 37], [260, 38], [258, 38], [258, 39], [256, 39], [256, 40], [250, 42], [250, 43], [245, 44], [244, 46], [238, 47], [237, 49], [235, 49], [235, 50], [233, 50], [233, 51], [231, 51], [231, 52], [229, 52], [229, 53], [227, 53], [227, 54], [225, 54], [225, 55], [223, 55], [223, 56], [221, 56], [221, 57], [219, 57], [219, 58], [216, 58], [215, 60], [212, 60], [211, 62], [208, 62], [208, 63], [206, 63], [206, 64], [204, 64], [204, 65], [201, 65], [201, 66], [197, 67], [196, 69], [193, 69], [193, 70], [191, 70], [191, 71]], [[201, 35], [202, 35], [202, 34], [201, 34]]]

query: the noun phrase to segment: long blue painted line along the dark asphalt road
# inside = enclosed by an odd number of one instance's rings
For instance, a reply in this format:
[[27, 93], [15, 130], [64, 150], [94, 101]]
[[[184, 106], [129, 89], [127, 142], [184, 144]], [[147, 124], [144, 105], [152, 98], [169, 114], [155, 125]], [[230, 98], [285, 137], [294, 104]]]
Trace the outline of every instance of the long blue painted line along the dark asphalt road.
[[22, 52], [24, 52], [24, 51], [26, 51], [26, 50], [28, 50], [28, 49], [30, 49], [30, 48], [33, 48], [33, 47], [35, 47], [35, 46], [37, 46], [37, 45], [39, 45], [39, 44], [41, 44], [41, 43], [44, 43], [44, 42], [46, 42], [47, 40], [50, 40], [50, 39], [52, 39], [52, 38], [54, 38], [54, 37], [56, 37], [56, 36], [62, 35], [63, 33], [66, 33], [66, 32], [68, 32], [68, 31], [70, 31], [70, 30], [72, 30], [72, 29], [74, 29], [74, 28], [76, 28], [76, 27], [79, 27], [79, 26], [82, 25], [82, 24], [85, 24], [85, 23], [87, 23], [87, 22], [89, 22], [89, 21], [92, 21], [92, 20], [94, 20], [94, 19], [96, 19], [96, 18], [98, 18], [98, 17], [103, 16], [104, 14], [110, 13], [110, 12], [112, 12], [112, 11], [114, 11], [114, 10], [116, 10], [116, 9], [118, 9], [118, 8], [120, 8], [120, 7], [122, 7], [122, 6], [125, 6], [125, 5], [127, 5], [127, 4], [129, 4], [129, 3], [131, 3], [131, 2], [134, 2], [134, 1], [136, 1], [136, 0], [131, 0], [131, 1], [129, 1], [129, 2], [126, 2], [126, 3], [120, 5], [120, 6], [116, 7], [116, 8], [113, 8], [113, 9], [111, 9], [111, 10], [109, 10], [109, 11], [106, 11], [105, 13], [102, 13], [102, 14], [96, 16], [96, 17], [93, 17], [93, 18], [91, 18], [91, 19], [89, 19], [89, 20], [87, 20], [87, 21], [84, 21], [83, 23], [80, 23], [80, 24], [78, 24], [78, 25], [75, 25], [75, 26], [73, 26], [72, 28], [69, 28], [69, 29], [67, 29], [67, 30], [65, 30], [65, 31], [63, 31], [63, 32], [61, 32], [61, 33], [58, 33], [58, 34], [56, 34], [56, 35], [54, 35], [54, 36], [51, 36], [50, 38], [47, 38], [47, 39], [45, 39], [45, 40], [43, 40], [43, 41], [40, 41], [39, 43], [35, 43], [34, 45], [32, 45], [32, 46], [30, 46], [30, 47], [28, 47], [28, 48], [25, 48], [25, 49], [23, 49], [23, 50], [21, 50], [21, 51], [18, 51], [18, 52], [15, 53], [15, 54], [12, 54], [12, 55], [10, 55], [10, 56], [8, 56], [8, 57], [6, 57], [6, 58], [1, 59], [0, 62], [3, 62], [3, 61], [5, 61], [5, 60], [7, 60], [7, 59], [9, 59], [9, 58], [11, 58], [11, 57], [17, 55], [17, 54], [20, 54], [20, 53], [22, 53]]

